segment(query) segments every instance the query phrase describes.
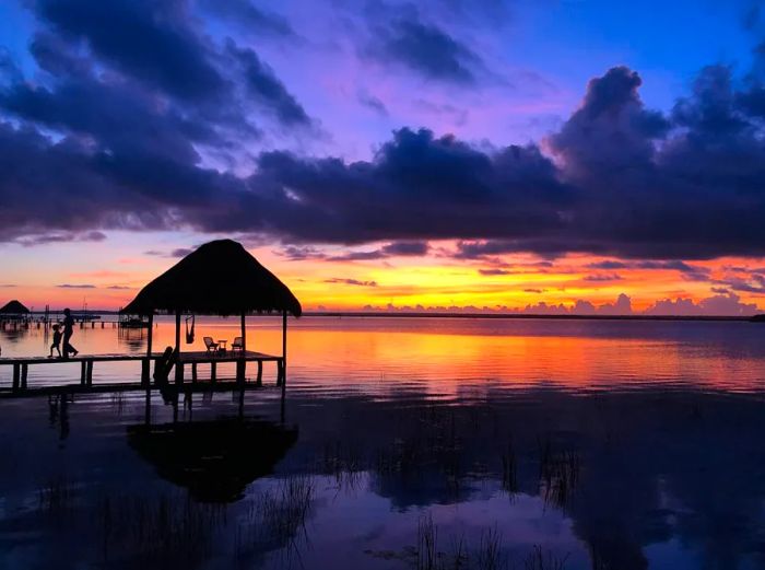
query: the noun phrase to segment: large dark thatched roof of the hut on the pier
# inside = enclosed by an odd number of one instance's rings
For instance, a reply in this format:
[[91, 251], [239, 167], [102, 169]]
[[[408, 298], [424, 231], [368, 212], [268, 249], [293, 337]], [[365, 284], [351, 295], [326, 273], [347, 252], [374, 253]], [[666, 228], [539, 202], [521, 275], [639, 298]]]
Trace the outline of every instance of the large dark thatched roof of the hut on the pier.
[[184, 257], [144, 287], [122, 313], [156, 311], [224, 316], [303, 312], [292, 291], [232, 240], [207, 243]]

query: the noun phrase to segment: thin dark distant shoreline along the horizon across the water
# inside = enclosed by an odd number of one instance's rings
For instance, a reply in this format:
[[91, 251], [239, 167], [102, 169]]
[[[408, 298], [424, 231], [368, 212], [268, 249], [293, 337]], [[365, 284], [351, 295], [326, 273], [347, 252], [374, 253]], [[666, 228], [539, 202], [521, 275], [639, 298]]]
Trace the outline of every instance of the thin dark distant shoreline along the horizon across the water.
[[[56, 314], [55, 311], [50, 312]], [[119, 311], [72, 311], [81, 315], [118, 315]], [[45, 315], [44, 311], [33, 311], [33, 315]], [[309, 311], [302, 317], [336, 318], [494, 318], [494, 319], [549, 319], [549, 321], [741, 321], [750, 322], [751, 316], [708, 316], [708, 315], [545, 315], [532, 313], [428, 313], [428, 312], [378, 312], [378, 311]]]

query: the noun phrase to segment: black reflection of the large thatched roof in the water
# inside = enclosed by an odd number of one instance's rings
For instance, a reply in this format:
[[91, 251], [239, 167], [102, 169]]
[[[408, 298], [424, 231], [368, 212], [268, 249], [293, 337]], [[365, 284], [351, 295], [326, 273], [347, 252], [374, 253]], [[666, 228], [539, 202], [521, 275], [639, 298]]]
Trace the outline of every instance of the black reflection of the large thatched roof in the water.
[[270, 475], [297, 441], [297, 429], [268, 421], [224, 419], [128, 427], [128, 443], [157, 474], [204, 502], [240, 499]]

